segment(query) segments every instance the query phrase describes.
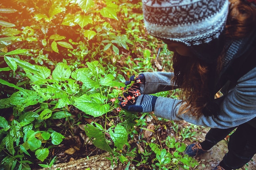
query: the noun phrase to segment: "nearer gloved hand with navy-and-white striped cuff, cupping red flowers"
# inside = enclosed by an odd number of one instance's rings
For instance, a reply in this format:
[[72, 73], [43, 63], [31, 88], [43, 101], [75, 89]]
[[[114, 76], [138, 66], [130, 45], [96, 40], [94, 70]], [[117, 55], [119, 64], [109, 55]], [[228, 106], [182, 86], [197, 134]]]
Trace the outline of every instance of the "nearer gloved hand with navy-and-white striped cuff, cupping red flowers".
[[122, 109], [141, 113], [155, 110], [155, 102], [157, 100], [157, 96], [140, 94], [137, 93], [137, 91], [135, 91], [134, 96], [131, 96], [129, 93], [124, 93], [124, 97], [119, 98], [121, 101], [119, 102], [119, 105]]

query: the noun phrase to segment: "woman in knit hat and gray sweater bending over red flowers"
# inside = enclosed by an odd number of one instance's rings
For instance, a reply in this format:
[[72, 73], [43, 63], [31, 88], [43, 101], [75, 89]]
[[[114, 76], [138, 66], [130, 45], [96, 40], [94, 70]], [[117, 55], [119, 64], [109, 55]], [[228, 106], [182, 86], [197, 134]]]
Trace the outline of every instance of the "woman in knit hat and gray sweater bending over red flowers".
[[[127, 86], [120, 105], [128, 111], [154, 111], [169, 120], [211, 127], [204, 142], [187, 146], [190, 156], [206, 152], [237, 127], [229, 152], [214, 170], [238, 169], [256, 153], [255, 4], [143, 0], [146, 29], [174, 51], [174, 72], [140, 74]], [[182, 89], [182, 100], [149, 95], [175, 88]], [[224, 95], [214, 98], [220, 89]]]

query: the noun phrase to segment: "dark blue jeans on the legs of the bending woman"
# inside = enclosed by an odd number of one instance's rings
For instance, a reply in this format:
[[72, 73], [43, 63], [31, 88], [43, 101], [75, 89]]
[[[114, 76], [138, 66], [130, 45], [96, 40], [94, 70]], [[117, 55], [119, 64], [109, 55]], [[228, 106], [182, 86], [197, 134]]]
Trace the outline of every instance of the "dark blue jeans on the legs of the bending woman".
[[[236, 129], [210, 129], [204, 142], [200, 143], [204, 150], [209, 150]], [[223, 157], [220, 166], [225, 170], [238, 169], [249, 162], [256, 153], [256, 129], [245, 123], [237, 127], [229, 137], [228, 153]]]

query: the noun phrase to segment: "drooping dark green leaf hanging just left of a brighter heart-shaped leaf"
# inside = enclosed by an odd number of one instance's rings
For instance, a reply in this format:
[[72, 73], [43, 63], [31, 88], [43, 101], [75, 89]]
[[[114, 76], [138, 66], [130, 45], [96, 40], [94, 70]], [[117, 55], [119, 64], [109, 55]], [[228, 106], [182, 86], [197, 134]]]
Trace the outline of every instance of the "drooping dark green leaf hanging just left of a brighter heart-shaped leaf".
[[85, 133], [90, 138], [94, 146], [112, 153], [112, 149], [106, 142], [104, 129], [100, 124], [96, 122], [86, 124]]

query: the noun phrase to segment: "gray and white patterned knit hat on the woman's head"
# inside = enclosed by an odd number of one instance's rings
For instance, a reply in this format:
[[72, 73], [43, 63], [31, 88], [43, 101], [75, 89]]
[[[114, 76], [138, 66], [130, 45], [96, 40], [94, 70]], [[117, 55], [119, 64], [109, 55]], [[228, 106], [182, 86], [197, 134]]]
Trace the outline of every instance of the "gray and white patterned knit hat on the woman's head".
[[187, 46], [209, 43], [225, 28], [228, 0], [142, 0], [150, 35]]

